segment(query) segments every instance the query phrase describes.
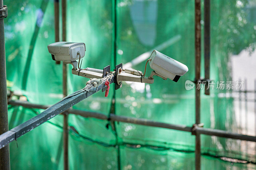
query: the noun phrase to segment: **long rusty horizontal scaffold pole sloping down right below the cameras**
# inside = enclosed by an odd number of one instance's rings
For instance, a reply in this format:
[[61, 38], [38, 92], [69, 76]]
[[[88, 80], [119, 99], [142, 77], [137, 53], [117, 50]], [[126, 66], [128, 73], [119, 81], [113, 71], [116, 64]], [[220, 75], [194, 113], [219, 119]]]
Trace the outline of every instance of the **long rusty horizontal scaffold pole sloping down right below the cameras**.
[[[9, 101], [8, 104], [20, 105], [23, 107], [38, 108], [38, 109], [44, 109], [47, 107], [45, 105], [32, 104], [32, 103], [21, 102], [21, 101]], [[76, 109], [68, 109], [67, 111], [70, 114], [76, 114], [76, 115], [80, 115], [83, 117], [94, 117], [94, 118], [103, 119], [103, 120], [108, 119], [108, 116], [106, 116], [102, 113], [97, 113], [97, 112], [88, 112], [88, 111], [76, 110]], [[151, 120], [142, 119], [142, 118], [118, 116], [115, 114], [110, 114], [109, 119], [113, 120], [113, 121], [118, 121], [118, 122], [126, 122], [126, 123], [132, 123], [132, 124], [161, 127], [161, 128], [166, 128], [166, 129], [173, 129], [173, 130], [187, 131], [187, 132], [192, 132], [192, 128], [193, 128], [193, 127], [189, 127], [186, 125], [168, 124], [168, 123], [156, 122], [156, 121], [151, 121]], [[218, 129], [194, 127], [193, 131], [196, 133], [199, 133], [199, 134], [204, 134], [204, 135], [218, 136], [218, 137], [224, 137], [224, 138], [233, 138], [233, 139], [240, 139], [240, 140], [256, 142], [256, 136], [231, 133], [231, 132], [218, 130]]]

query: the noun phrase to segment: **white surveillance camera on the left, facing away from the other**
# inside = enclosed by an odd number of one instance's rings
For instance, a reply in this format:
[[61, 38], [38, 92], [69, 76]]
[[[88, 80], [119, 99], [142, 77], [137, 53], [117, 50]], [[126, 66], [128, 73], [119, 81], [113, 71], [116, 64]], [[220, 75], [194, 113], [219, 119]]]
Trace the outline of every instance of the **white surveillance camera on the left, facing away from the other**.
[[[76, 42], [55, 42], [49, 44], [48, 46], [49, 53], [52, 54], [52, 60], [63, 61], [65, 64], [72, 64], [76, 60], [82, 59], [85, 54], [85, 44], [76, 43]], [[80, 55], [80, 56], [79, 56]], [[74, 68], [76, 68], [77, 63]]]

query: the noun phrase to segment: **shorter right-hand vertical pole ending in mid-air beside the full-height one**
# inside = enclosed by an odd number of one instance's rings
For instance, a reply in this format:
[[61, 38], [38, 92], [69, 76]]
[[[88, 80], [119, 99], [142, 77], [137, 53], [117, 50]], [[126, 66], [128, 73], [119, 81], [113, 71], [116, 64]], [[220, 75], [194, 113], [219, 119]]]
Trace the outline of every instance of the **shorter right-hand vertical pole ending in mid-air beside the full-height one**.
[[[210, 0], [204, 0], [204, 79], [206, 87], [210, 80]], [[210, 88], [204, 88], [204, 94], [210, 95]]]

